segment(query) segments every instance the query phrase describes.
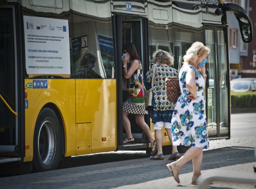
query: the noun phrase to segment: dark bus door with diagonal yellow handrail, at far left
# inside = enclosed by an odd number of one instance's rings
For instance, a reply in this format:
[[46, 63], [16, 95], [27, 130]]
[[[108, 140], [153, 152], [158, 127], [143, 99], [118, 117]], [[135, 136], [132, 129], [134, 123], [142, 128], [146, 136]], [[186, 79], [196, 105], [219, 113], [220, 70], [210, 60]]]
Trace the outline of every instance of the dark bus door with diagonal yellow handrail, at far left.
[[0, 4], [0, 163], [19, 161], [23, 154], [19, 149], [22, 131], [18, 129], [18, 116], [23, 113], [17, 114], [20, 106], [18, 82], [23, 83], [23, 77], [18, 77], [20, 65], [16, 47], [17, 37], [21, 36], [16, 36], [19, 26], [15, 22], [20, 20], [17, 20], [15, 14], [18, 13], [14, 10], [18, 11], [15, 6]]

